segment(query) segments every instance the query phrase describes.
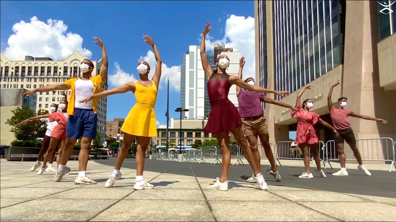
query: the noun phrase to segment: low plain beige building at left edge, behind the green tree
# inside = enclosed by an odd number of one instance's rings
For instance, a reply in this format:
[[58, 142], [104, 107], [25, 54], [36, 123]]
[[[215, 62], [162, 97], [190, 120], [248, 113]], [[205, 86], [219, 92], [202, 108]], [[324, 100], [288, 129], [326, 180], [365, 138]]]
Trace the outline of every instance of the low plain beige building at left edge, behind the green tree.
[[2, 88], [0, 89], [0, 144], [8, 146], [15, 140], [14, 134], [11, 132], [12, 127], [6, 124], [8, 119], [13, 117], [12, 111], [23, 105], [29, 105], [29, 108], [36, 113], [37, 96], [32, 95], [29, 98], [23, 98], [26, 89], [18, 88]]

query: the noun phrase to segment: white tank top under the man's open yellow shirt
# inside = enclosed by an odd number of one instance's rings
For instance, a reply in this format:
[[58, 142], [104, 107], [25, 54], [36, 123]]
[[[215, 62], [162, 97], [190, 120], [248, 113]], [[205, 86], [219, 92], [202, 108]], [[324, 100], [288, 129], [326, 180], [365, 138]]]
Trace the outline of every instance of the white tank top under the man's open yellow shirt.
[[91, 96], [94, 89], [95, 86], [91, 80], [77, 79], [76, 83], [74, 83], [74, 108], [93, 109], [92, 100], [87, 103], [80, 103], [80, 101]]

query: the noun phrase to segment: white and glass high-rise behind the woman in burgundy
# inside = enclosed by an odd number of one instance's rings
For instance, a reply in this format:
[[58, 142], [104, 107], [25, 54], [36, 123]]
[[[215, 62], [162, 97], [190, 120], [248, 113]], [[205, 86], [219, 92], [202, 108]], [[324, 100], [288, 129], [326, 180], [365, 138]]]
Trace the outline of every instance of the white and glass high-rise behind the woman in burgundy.
[[[215, 44], [213, 55], [206, 55], [209, 65], [215, 69], [218, 56], [223, 54], [230, 58], [230, 66], [227, 73], [238, 75], [241, 53], [234, 52], [232, 48], [225, 48], [224, 45]], [[207, 82], [208, 79], [202, 69], [200, 46], [190, 45], [189, 50], [183, 56], [183, 65], [181, 66], [180, 104], [181, 107], [189, 109], [188, 112], [183, 113], [183, 119], [207, 119], [209, 117], [210, 103]], [[235, 85], [230, 88], [228, 98], [238, 106]]]

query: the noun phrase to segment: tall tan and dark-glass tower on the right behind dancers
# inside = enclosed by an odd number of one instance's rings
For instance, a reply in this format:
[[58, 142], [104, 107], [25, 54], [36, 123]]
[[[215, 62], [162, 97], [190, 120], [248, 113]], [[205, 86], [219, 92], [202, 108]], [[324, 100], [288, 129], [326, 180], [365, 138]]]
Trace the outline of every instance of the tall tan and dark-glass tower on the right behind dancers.
[[[391, 7], [392, 13], [377, 1], [255, 1], [256, 79], [261, 87], [289, 90], [276, 99], [291, 105], [301, 87], [314, 85], [301, 101], [312, 99], [312, 111], [330, 124], [327, 94], [340, 80], [333, 105], [345, 96], [348, 109], [388, 120], [349, 118], [356, 139], [396, 138], [396, 4]], [[290, 110], [267, 105], [265, 115], [270, 143], [288, 141], [297, 128]], [[316, 129], [322, 141], [335, 136], [320, 124]]]

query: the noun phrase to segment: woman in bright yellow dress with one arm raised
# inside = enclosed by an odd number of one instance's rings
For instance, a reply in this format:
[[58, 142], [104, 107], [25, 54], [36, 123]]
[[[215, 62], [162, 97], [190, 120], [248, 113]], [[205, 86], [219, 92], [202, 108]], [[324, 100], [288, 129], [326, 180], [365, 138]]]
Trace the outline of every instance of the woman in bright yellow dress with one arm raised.
[[116, 87], [110, 90], [94, 94], [80, 103], [88, 102], [93, 98], [101, 98], [112, 94], [120, 94], [132, 91], [135, 94], [136, 104], [129, 111], [128, 116], [122, 125], [121, 131], [124, 132], [124, 139], [122, 146], [116, 159], [114, 171], [109, 179], [106, 181], [105, 187], [112, 187], [116, 180], [121, 178], [121, 166], [124, 162], [132, 142], [137, 137], [137, 151], [136, 151], [136, 180], [133, 188], [135, 190], [152, 189], [154, 186], [146, 182], [143, 178], [143, 169], [145, 165], [145, 152], [151, 137], [157, 136], [157, 125], [154, 112], [154, 106], [158, 94], [158, 84], [161, 78], [162, 60], [160, 53], [149, 36], [143, 36], [145, 42], [152, 46], [155, 60], [155, 73], [152, 80], [148, 79], [150, 66], [146, 61], [140, 61], [137, 66], [140, 79], [136, 82], [129, 82], [121, 87]]

